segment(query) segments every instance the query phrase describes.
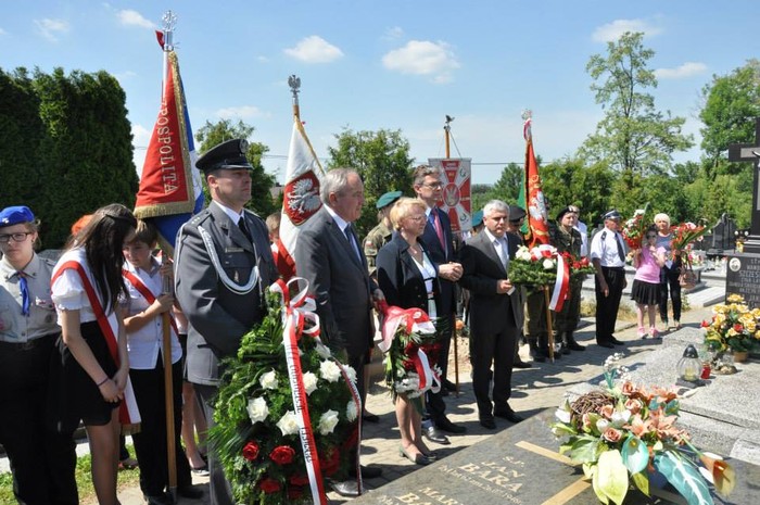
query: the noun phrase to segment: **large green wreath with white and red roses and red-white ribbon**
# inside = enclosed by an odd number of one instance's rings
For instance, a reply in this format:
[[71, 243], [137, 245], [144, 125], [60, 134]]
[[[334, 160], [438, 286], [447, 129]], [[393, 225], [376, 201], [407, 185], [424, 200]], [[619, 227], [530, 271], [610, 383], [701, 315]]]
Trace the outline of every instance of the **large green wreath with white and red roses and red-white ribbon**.
[[210, 441], [236, 503], [327, 503], [322, 478], [356, 465], [356, 373], [320, 342], [314, 300], [291, 301], [288, 286], [267, 290], [267, 316], [224, 361]]

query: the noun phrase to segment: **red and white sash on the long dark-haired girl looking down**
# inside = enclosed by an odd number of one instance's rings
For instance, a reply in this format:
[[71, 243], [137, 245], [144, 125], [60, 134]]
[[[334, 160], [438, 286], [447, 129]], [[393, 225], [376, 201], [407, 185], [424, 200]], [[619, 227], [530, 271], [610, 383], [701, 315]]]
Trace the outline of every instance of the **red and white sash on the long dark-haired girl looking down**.
[[[62, 260], [65, 261], [61, 261], [58, 263], [58, 265], [55, 265], [52, 279], [50, 280], [50, 285], [52, 286], [55, 282], [55, 280], [61, 276], [61, 274], [63, 274], [65, 270], [71, 269], [79, 275], [79, 278], [81, 279], [81, 286], [85, 288], [87, 299], [89, 300], [90, 305], [92, 306], [92, 312], [96, 315], [98, 326], [100, 327], [100, 330], [103, 333], [103, 337], [105, 338], [105, 343], [109, 346], [111, 357], [116, 364], [116, 367], [118, 367], [118, 318], [116, 316], [116, 313], [112, 311], [109, 315], [105, 314], [105, 311], [103, 310], [103, 304], [100, 301], [100, 298], [98, 296], [94, 287], [92, 286], [92, 281], [90, 280], [88, 268], [85, 266], [86, 263], [83, 250], [77, 249], [74, 251], [69, 251], [68, 253], [64, 254]], [[118, 417], [123, 426], [128, 427], [129, 425], [137, 425], [140, 422], [140, 412], [137, 408], [135, 391], [132, 390], [132, 384], [129, 380], [129, 376], [127, 376], [127, 386], [124, 389], [124, 400], [122, 401], [122, 405], [119, 406]], [[129, 428], [126, 428], [126, 430], [129, 431]]]

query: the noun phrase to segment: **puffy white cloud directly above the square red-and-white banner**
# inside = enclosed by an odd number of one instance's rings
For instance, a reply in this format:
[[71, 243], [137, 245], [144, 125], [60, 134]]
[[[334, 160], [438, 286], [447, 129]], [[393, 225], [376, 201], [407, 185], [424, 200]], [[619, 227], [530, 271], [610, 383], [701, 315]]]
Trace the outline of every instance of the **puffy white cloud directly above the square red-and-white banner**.
[[382, 64], [402, 74], [431, 76], [439, 84], [452, 80], [452, 71], [459, 68], [446, 42], [429, 40], [410, 40], [403, 48], [385, 53]]

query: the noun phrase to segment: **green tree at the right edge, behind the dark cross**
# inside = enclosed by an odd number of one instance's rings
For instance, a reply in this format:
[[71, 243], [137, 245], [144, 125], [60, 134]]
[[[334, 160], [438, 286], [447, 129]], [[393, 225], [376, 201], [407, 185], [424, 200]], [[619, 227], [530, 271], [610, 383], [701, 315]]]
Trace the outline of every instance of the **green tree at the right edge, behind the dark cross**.
[[727, 163], [729, 146], [755, 142], [755, 118], [760, 117], [760, 61], [749, 60], [729, 75], [713, 75], [701, 94], [705, 103], [699, 112], [705, 124], [700, 129], [701, 149], [708, 175], [737, 174], [743, 166]]

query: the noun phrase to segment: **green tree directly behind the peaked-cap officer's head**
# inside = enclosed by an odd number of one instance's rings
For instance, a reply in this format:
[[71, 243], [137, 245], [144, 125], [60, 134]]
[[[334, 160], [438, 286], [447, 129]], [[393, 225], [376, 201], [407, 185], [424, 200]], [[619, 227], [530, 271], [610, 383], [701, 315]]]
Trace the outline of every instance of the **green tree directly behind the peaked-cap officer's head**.
[[[232, 123], [231, 119], [219, 119], [216, 123], [206, 121], [200, 129], [195, 131], [195, 140], [200, 142], [201, 153], [211, 148], [231, 139], [250, 139], [255, 128], [246, 125], [238, 119], [238, 123]], [[251, 174], [251, 201], [245, 204], [245, 207], [258, 214], [262, 218], [277, 211], [277, 204], [271, 198], [269, 191], [275, 186], [275, 177], [267, 174], [262, 165], [262, 156], [269, 151], [269, 148], [261, 142], [250, 142], [245, 157], [253, 166]], [[203, 181], [203, 192], [205, 194], [206, 204], [211, 201], [208, 190]]]

